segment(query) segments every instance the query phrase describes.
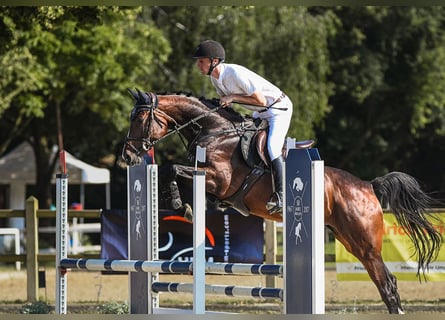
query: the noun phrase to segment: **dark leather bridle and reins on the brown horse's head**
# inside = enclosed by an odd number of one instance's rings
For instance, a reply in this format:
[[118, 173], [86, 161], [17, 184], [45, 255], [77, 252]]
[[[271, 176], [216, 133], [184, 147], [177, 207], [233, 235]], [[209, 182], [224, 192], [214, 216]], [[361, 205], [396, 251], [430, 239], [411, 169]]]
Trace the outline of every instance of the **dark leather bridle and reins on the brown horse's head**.
[[[124, 145], [127, 146], [128, 148], [130, 148], [137, 156], [140, 156], [143, 151], [146, 152], [146, 151], [150, 150], [151, 148], [153, 148], [153, 146], [155, 144], [166, 139], [167, 137], [174, 135], [174, 134], [180, 134], [182, 129], [187, 128], [190, 125], [195, 125], [198, 127], [199, 132], [196, 135], [196, 138], [197, 138], [202, 130], [202, 126], [198, 123], [198, 120], [205, 118], [208, 115], [210, 115], [211, 113], [217, 112], [218, 110], [220, 110], [222, 108], [222, 106], [216, 106], [215, 108], [213, 108], [207, 112], [204, 112], [201, 115], [180, 125], [174, 118], [172, 118], [167, 113], [165, 113], [164, 111], [162, 111], [158, 108], [159, 100], [155, 93], [149, 92], [149, 93], [145, 94], [145, 93], [141, 93], [139, 91], [138, 91], [138, 93], [139, 93], [139, 99], [136, 101], [136, 104], [134, 105], [133, 110], [131, 111], [130, 121], [133, 122], [137, 118], [139, 113], [144, 112], [144, 111], [149, 112], [150, 119], [148, 121], [146, 121], [142, 137], [132, 137], [132, 136], [130, 136], [130, 131], [129, 131], [127, 134], [127, 137], [125, 138], [125, 142], [124, 142]], [[141, 101], [142, 98], [143, 98], [143, 101]], [[168, 120], [170, 120], [171, 123], [169, 125], [169, 131], [165, 135], [163, 135], [159, 139], [152, 140], [149, 133], [150, 133], [150, 129], [153, 124], [153, 121], [156, 121], [156, 123], [161, 128], [163, 126], [163, 123], [159, 120], [159, 118], [156, 116], [156, 114], [161, 114], [162, 116], [164, 116]], [[179, 136], [181, 138], [182, 143], [187, 148], [187, 144], [184, 141], [184, 138], [182, 137], [181, 134]], [[196, 140], [196, 138], [195, 138], [195, 140]], [[136, 148], [131, 143], [132, 141], [141, 142], [141, 147], [139, 149]]]

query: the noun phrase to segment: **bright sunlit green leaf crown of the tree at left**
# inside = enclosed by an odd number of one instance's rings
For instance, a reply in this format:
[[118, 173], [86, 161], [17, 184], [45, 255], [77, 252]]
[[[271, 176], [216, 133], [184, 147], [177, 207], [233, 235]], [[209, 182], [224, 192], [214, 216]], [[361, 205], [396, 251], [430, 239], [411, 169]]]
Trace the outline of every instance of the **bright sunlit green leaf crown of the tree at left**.
[[[123, 131], [130, 108], [126, 88], [153, 81], [149, 75], [170, 52], [161, 32], [140, 19], [140, 8], [20, 11], [20, 17], [12, 9], [3, 12], [13, 38], [12, 50], [1, 56], [0, 90], [6, 94], [0, 115], [19, 105], [26, 117], [44, 118], [51, 105], [61, 104], [67, 117], [88, 110]], [[34, 23], [21, 29], [23, 19]]]

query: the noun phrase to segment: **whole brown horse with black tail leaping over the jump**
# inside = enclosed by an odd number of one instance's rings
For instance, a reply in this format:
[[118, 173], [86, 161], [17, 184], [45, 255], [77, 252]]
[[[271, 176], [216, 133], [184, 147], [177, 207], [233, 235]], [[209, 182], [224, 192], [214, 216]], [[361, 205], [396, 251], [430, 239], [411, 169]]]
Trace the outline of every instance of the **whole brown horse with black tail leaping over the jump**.
[[[144, 152], [172, 134], [187, 142], [189, 157], [196, 146], [206, 148], [206, 191], [222, 205], [240, 213], [279, 221], [270, 215], [266, 203], [272, 194], [270, 170], [264, 157], [247, 156], [241, 145], [258, 129], [230, 108], [220, 108], [208, 100], [186, 95], [132, 93], [136, 103], [122, 157], [128, 165], [140, 163]], [[255, 139], [253, 139], [255, 140]], [[185, 142], [184, 142], [185, 143]], [[258, 144], [261, 145], [261, 144]], [[251, 154], [252, 152], [250, 152]], [[261, 153], [261, 152], [259, 152]], [[250, 163], [250, 164], [249, 164]], [[253, 165], [252, 165], [253, 163]], [[267, 161], [266, 161], [267, 163]], [[187, 211], [181, 194], [192, 189], [193, 167], [173, 165], [161, 173], [160, 188], [166, 187], [172, 207]], [[411, 176], [392, 172], [365, 182], [340, 169], [325, 167], [325, 224], [345, 248], [364, 265], [390, 313], [403, 313], [396, 278], [386, 268], [381, 255], [383, 236], [382, 205], [388, 206], [411, 237], [418, 259], [418, 272], [428, 269], [436, 258], [442, 237], [427, 220], [432, 199]], [[380, 199], [380, 201], [379, 201]], [[420, 279], [420, 278], [419, 278]]]

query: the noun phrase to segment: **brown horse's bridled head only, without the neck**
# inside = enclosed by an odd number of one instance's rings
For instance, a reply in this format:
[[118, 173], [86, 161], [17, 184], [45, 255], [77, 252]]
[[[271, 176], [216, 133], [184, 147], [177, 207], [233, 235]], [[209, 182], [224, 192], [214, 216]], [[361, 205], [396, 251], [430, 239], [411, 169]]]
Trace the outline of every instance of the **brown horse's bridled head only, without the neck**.
[[153, 147], [154, 142], [168, 132], [169, 118], [157, 112], [158, 98], [154, 93], [128, 90], [135, 99], [130, 115], [130, 129], [125, 139], [122, 158], [127, 165], [142, 162], [143, 153]]

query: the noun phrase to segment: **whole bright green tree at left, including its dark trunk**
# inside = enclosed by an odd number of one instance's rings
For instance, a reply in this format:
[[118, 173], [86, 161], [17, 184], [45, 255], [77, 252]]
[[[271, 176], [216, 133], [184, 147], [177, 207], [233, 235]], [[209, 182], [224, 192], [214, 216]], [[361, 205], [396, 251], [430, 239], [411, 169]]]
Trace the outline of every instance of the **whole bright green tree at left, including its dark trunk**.
[[[37, 198], [49, 205], [60, 108], [65, 146], [98, 161], [128, 127], [126, 88], [156, 81], [168, 41], [141, 8], [2, 7], [0, 150], [31, 143]], [[104, 148], [105, 146], [105, 148]], [[114, 153], [114, 149], [112, 150]]]

